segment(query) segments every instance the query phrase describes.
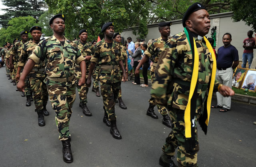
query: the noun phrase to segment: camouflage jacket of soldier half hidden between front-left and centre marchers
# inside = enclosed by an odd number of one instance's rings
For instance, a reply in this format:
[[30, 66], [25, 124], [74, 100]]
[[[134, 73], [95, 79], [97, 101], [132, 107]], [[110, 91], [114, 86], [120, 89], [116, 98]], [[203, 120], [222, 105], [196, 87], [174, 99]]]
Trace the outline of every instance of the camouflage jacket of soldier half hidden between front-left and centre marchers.
[[[75, 41], [74, 43], [77, 45], [78, 49], [79, 49], [80, 52], [81, 52], [81, 55], [82, 55], [84, 58], [85, 58], [86, 56], [92, 56], [92, 52], [93, 52], [93, 48], [94, 48], [92, 44], [86, 42], [86, 43], [84, 44], [84, 46], [83, 46], [83, 44], [81, 44], [80, 40]], [[85, 62], [86, 62], [86, 68], [88, 69], [89, 66], [90, 66], [90, 61], [85, 61]], [[76, 70], [80, 71], [80, 66], [76, 65]], [[88, 71], [88, 70], [86, 70], [86, 73], [88, 73], [87, 71]]]

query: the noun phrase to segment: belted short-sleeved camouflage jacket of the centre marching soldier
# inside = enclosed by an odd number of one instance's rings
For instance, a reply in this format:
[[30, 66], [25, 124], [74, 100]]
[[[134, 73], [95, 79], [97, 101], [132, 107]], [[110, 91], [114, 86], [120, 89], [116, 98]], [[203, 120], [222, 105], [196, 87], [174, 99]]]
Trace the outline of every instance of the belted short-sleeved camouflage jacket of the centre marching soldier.
[[[94, 54], [91, 58], [91, 62], [98, 63], [107, 66], [118, 66], [118, 62], [124, 60], [121, 54], [121, 46], [117, 42], [112, 42], [112, 47], [108, 47], [104, 38], [95, 45]], [[99, 74], [100, 82], [104, 83], [116, 83], [121, 81], [121, 74], [119, 69], [100, 69]]]

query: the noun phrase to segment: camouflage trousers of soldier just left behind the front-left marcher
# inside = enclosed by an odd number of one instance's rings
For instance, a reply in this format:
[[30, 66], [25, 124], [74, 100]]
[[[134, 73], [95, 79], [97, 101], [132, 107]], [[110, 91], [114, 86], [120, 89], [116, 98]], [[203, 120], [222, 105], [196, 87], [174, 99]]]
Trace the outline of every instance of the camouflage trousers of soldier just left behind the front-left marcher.
[[44, 83], [46, 75], [43, 72], [35, 72], [29, 74], [30, 88], [33, 92], [33, 99], [35, 103], [35, 111], [40, 111], [48, 101], [48, 91]]

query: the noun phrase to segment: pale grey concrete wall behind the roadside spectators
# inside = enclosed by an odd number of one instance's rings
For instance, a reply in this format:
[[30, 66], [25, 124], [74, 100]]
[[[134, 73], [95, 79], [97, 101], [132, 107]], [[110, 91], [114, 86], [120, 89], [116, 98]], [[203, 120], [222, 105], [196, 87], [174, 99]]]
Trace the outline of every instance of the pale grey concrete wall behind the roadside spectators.
[[[245, 38], [247, 38], [247, 32], [248, 30], [252, 30], [249, 26], [245, 25], [245, 22], [233, 22], [232, 20], [232, 12], [227, 13], [221, 13], [221, 14], [212, 14], [210, 15], [210, 21], [211, 21], [211, 27], [217, 26], [216, 30], [216, 51], [219, 47], [223, 46], [222, 43], [222, 36], [226, 32], [229, 32], [232, 35], [232, 42], [231, 44], [236, 47], [239, 54], [239, 60], [242, 60], [242, 54], [244, 51], [244, 48], [242, 47], [243, 41]], [[182, 26], [182, 20], [174, 20], [172, 21], [171, 28], [171, 35], [177, 34], [179, 32], [182, 32], [184, 30]], [[124, 30], [121, 34], [124, 39], [127, 37], [131, 37], [132, 41], [136, 41], [137, 36], [134, 36], [132, 34], [132, 30]], [[206, 36], [211, 36], [211, 31]], [[160, 37], [160, 33], [158, 31], [158, 24], [150, 24], [148, 25], [148, 35], [145, 38], [146, 42], [150, 39], [156, 39]], [[256, 55], [256, 50], [254, 50], [254, 55]], [[256, 60], [256, 58], [254, 58]]]

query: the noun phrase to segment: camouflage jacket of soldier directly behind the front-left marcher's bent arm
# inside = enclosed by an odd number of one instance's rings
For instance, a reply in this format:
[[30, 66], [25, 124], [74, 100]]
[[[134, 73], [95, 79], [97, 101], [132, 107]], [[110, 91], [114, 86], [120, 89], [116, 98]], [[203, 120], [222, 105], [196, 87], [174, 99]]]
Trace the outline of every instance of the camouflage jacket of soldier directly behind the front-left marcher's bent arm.
[[[34, 50], [34, 48], [36, 48], [36, 43], [33, 42], [32, 40], [26, 42], [21, 49], [21, 54], [19, 57], [19, 62], [18, 62], [18, 66], [22, 66], [24, 67], [26, 62], [28, 61], [28, 56], [30, 56]], [[44, 68], [45, 67], [45, 62], [40, 61], [39, 64], [36, 64], [34, 66], [34, 68]], [[32, 70], [32, 72], [35, 72], [34, 70]]]

